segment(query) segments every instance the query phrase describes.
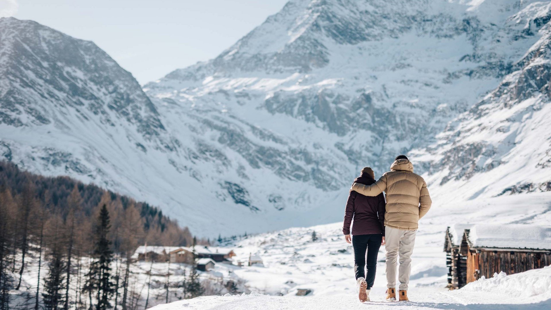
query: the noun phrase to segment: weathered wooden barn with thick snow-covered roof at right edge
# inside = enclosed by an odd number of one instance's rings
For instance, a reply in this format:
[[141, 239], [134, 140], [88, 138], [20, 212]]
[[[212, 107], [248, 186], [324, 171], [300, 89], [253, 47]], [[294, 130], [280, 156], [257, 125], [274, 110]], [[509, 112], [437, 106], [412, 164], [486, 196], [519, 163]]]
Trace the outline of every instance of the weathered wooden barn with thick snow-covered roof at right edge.
[[[466, 228], [459, 239], [457, 234], [461, 227]], [[510, 275], [551, 265], [551, 227], [449, 227], [444, 247], [449, 265], [450, 288], [461, 288], [482, 276], [493, 277], [496, 272], [503, 271]]]

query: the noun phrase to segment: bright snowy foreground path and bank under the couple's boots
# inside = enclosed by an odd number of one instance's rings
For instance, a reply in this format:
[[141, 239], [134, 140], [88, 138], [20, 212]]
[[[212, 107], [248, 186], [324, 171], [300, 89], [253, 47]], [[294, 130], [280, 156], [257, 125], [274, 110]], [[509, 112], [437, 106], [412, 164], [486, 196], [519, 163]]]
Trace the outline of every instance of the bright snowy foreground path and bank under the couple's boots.
[[384, 290], [371, 291], [371, 302], [360, 303], [354, 292], [337, 295], [267, 296], [258, 293], [235, 296], [204, 296], [151, 310], [334, 310], [334, 309], [443, 309], [443, 310], [549, 310], [551, 309], [551, 266], [491, 279], [481, 279], [461, 290], [440, 291], [435, 287], [410, 290], [410, 302], [384, 300]]

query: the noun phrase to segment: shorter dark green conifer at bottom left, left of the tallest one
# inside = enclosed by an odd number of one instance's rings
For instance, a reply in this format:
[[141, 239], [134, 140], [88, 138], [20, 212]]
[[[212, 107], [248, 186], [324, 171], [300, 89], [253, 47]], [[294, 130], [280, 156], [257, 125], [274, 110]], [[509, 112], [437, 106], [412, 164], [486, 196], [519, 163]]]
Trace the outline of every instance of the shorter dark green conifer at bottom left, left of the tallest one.
[[44, 300], [44, 308], [46, 310], [57, 310], [62, 308], [63, 300], [63, 271], [64, 265], [61, 255], [58, 253], [52, 254], [50, 266], [48, 266], [48, 275], [44, 281], [44, 292], [42, 298]]

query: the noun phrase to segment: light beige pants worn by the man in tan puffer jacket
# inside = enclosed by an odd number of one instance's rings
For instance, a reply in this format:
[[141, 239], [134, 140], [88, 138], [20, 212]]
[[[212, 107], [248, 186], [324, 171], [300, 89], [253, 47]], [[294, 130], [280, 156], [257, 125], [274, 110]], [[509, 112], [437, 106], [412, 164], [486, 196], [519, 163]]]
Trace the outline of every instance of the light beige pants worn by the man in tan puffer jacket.
[[386, 282], [389, 288], [396, 288], [396, 260], [399, 255], [398, 281], [400, 281], [400, 286], [398, 290], [407, 291], [408, 289], [409, 273], [412, 271], [411, 255], [415, 245], [415, 233], [417, 233], [417, 230], [406, 231], [385, 227]]

